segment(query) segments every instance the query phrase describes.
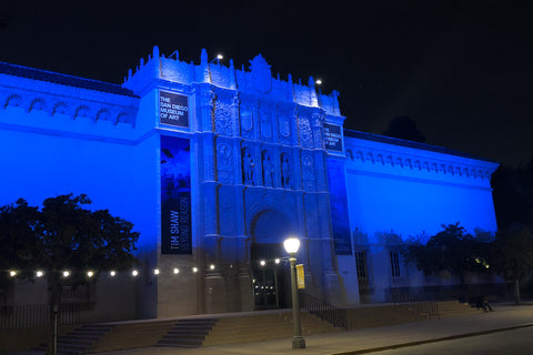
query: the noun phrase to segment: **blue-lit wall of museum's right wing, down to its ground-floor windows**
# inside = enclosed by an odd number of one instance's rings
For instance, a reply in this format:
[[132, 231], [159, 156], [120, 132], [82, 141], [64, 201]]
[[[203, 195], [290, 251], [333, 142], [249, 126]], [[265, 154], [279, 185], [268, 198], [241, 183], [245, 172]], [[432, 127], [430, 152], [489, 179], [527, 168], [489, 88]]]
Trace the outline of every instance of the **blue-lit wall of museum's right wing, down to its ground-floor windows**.
[[346, 132], [345, 146], [354, 248], [368, 255], [371, 300], [391, 301], [393, 288], [424, 286], [412, 265], [401, 262], [400, 275], [391, 272], [390, 253], [406, 239], [425, 242], [456, 222], [470, 233], [496, 231], [490, 184], [496, 163], [361, 132]]

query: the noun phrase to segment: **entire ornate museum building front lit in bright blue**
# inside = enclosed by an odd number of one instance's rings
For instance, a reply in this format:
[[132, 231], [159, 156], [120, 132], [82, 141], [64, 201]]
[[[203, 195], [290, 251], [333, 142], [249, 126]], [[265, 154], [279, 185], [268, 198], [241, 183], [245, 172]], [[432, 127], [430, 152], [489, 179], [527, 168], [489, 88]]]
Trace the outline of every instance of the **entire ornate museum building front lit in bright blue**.
[[[497, 164], [344, 119], [336, 92], [273, 77], [261, 55], [235, 69], [154, 48], [122, 85], [4, 63], [0, 203], [86, 193], [134, 223], [141, 275], [101, 275], [94, 320], [288, 306], [289, 235], [306, 292], [338, 305], [456, 284], [398, 250], [447, 223], [494, 232]], [[37, 303], [28, 290], [46, 292], [18, 284], [11, 302]]]

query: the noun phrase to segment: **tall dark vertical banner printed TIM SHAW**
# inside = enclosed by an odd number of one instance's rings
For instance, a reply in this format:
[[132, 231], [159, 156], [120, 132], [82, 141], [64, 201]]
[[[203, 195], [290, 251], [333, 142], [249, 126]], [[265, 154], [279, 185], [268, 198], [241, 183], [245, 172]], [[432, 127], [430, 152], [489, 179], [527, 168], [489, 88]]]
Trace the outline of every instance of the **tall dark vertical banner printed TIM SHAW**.
[[191, 163], [188, 139], [161, 136], [161, 254], [191, 254]]

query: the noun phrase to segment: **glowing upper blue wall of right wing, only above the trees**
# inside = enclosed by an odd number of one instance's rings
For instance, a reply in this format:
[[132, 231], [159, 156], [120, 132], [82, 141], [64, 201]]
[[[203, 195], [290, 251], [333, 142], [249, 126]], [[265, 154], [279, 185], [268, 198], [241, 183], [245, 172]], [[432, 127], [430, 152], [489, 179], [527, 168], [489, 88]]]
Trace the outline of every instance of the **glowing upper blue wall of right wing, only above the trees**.
[[433, 235], [455, 222], [472, 233], [496, 230], [490, 185], [496, 163], [423, 144], [406, 148], [401, 140], [345, 141], [352, 229], [370, 239], [391, 230], [404, 237]]

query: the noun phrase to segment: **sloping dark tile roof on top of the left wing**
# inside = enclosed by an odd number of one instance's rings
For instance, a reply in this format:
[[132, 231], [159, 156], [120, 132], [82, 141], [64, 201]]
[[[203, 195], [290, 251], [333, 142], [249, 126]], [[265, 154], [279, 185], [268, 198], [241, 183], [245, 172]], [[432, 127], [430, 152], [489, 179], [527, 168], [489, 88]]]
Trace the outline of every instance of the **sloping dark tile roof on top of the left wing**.
[[0, 62], [0, 73], [27, 78], [27, 79], [47, 81], [47, 82], [52, 82], [52, 83], [68, 85], [68, 87], [82, 88], [82, 89], [114, 93], [114, 94], [124, 95], [124, 97], [138, 98], [138, 95], [135, 95], [133, 91], [122, 88], [121, 85], [118, 85], [118, 84], [112, 84], [109, 82], [103, 82], [103, 81], [98, 81], [92, 79], [72, 77], [72, 75], [42, 70], [42, 69], [34, 69], [34, 68], [22, 67], [22, 65], [6, 63], [6, 62]]

